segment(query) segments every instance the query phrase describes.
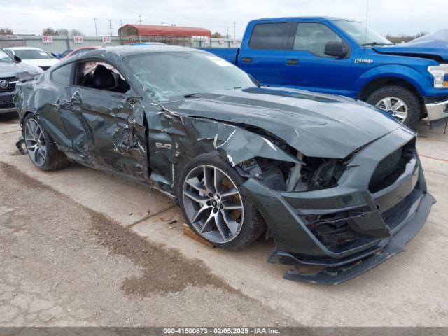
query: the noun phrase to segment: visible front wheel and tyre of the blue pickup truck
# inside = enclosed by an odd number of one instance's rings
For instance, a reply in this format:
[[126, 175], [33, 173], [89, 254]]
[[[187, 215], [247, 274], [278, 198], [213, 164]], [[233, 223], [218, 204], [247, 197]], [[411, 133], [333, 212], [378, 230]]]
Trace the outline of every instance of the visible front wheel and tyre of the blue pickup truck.
[[367, 98], [367, 103], [383, 109], [407, 127], [416, 130], [421, 116], [419, 97], [399, 85], [388, 85], [374, 91]]

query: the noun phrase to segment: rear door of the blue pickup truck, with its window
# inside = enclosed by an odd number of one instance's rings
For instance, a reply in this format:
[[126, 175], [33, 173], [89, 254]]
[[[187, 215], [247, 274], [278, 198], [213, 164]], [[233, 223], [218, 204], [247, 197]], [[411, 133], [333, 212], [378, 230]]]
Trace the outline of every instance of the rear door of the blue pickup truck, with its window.
[[290, 22], [254, 25], [250, 38], [245, 38], [241, 45], [238, 66], [264, 85], [282, 85], [290, 25]]

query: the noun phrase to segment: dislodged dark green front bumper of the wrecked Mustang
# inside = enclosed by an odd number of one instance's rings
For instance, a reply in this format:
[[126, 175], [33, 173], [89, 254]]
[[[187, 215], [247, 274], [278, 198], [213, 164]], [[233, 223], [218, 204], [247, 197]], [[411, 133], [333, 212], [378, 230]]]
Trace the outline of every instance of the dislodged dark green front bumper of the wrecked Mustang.
[[[415, 133], [405, 127], [374, 141], [356, 154], [334, 188], [288, 193], [246, 181], [243, 187], [276, 242], [268, 262], [307, 268], [286, 272], [286, 279], [337, 284], [402, 251], [435, 202], [414, 144]], [[374, 172], [397, 148], [406, 148], [405, 163], [375, 189]]]

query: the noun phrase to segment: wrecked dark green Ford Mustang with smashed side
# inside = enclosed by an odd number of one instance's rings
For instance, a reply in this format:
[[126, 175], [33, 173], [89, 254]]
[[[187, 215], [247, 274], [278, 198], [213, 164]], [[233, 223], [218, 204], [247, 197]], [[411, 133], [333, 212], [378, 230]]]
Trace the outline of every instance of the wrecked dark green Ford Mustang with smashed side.
[[263, 87], [201, 50], [92, 50], [17, 88], [18, 146], [34, 165], [75, 161], [146, 183], [214, 246], [265, 233], [268, 261], [297, 266], [286, 279], [335, 284], [371, 269], [402, 251], [435, 202], [416, 134], [386, 113]]

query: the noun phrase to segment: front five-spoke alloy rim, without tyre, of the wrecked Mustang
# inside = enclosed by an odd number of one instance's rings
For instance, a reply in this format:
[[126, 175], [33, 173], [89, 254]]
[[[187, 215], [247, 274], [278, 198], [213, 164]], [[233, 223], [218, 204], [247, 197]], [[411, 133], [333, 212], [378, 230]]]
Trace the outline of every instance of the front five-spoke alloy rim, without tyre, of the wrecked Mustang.
[[190, 223], [214, 243], [235, 239], [244, 222], [244, 207], [235, 183], [221, 169], [200, 165], [183, 183], [183, 207]]

